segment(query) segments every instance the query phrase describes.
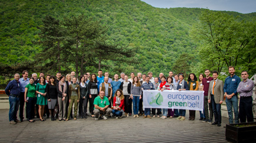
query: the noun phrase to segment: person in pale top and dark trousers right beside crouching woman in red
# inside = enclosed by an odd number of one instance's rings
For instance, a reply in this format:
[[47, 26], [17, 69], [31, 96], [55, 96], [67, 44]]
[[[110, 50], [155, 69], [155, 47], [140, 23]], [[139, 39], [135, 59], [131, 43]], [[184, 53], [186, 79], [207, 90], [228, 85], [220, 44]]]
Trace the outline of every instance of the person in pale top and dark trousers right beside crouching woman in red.
[[131, 99], [131, 85], [132, 83], [128, 81], [128, 76], [124, 76], [124, 81], [121, 83], [120, 89], [124, 93], [124, 111], [125, 117], [132, 115], [132, 99]]

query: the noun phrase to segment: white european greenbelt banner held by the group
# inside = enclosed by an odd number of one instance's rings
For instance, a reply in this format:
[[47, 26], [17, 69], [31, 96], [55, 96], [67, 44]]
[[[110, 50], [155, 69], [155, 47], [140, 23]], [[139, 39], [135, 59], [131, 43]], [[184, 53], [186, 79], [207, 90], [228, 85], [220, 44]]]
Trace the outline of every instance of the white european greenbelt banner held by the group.
[[143, 90], [143, 107], [202, 111], [204, 108], [204, 91]]

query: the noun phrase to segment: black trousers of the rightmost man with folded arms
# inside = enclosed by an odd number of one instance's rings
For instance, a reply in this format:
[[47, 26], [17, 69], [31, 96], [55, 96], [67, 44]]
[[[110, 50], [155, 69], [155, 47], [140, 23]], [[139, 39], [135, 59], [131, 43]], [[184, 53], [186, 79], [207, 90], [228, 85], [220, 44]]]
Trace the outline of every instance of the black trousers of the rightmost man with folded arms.
[[252, 97], [240, 97], [239, 104], [239, 118], [240, 122], [253, 122], [254, 117], [252, 113]]

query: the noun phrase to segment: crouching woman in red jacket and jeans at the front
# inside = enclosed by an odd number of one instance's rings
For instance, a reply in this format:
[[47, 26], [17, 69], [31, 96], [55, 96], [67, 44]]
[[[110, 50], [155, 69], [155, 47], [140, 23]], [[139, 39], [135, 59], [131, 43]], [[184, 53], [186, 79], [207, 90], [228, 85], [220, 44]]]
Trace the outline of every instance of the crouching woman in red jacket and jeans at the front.
[[116, 118], [122, 118], [122, 113], [124, 113], [124, 94], [118, 89], [115, 91], [112, 114], [116, 115]]

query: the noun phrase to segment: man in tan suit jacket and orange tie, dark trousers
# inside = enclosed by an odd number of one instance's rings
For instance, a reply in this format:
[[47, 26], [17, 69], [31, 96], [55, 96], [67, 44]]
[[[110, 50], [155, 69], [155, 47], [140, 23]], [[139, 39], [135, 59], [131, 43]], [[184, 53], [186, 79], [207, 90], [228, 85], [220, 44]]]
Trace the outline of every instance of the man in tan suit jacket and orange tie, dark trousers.
[[208, 91], [208, 103], [212, 104], [212, 110], [214, 113], [215, 121], [212, 125], [218, 124], [221, 126], [221, 104], [224, 100], [224, 83], [222, 80], [218, 80], [218, 71], [212, 71], [212, 77], [214, 80], [210, 81]]

